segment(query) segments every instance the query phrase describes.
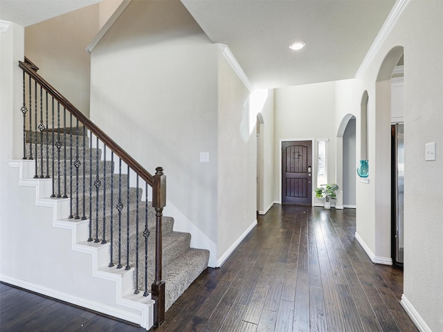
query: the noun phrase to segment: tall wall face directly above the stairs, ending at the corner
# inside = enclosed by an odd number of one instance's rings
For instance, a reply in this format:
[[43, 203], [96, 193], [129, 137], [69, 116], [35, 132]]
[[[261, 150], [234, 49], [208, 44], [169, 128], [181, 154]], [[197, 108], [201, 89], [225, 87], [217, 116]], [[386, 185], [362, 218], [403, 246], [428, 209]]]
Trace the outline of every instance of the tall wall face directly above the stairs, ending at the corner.
[[91, 120], [163, 167], [168, 200], [217, 241], [217, 46], [181, 3], [133, 1], [93, 49]]

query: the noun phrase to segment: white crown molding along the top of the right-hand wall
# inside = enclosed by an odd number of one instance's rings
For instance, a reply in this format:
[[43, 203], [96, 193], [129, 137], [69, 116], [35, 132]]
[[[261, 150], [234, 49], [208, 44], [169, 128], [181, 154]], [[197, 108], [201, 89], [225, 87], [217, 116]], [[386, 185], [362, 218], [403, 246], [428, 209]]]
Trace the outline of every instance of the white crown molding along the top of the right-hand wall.
[[392, 7], [392, 10], [390, 11], [388, 18], [386, 19], [383, 26], [381, 26], [381, 29], [377, 34], [377, 37], [375, 37], [374, 42], [372, 42], [372, 45], [368, 50], [368, 53], [366, 53], [366, 56], [363, 59], [363, 62], [361, 63], [359, 70], [355, 74], [355, 78], [361, 77], [363, 73], [368, 69], [375, 55], [380, 50], [381, 45], [383, 44], [383, 42], [385, 42], [386, 37], [388, 37], [392, 29], [395, 27], [397, 21], [401, 17], [401, 14], [403, 14], [404, 10], [406, 9], [409, 3], [410, 0], [397, 0], [395, 2], [395, 5], [394, 7]]

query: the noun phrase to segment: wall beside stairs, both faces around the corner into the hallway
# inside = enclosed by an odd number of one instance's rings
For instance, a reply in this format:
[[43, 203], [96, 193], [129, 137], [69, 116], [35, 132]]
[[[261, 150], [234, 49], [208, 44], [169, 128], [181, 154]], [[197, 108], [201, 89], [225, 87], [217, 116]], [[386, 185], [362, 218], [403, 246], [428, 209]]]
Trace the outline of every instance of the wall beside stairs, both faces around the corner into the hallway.
[[174, 229], [206, 237], [196, 246], [210, 264], [255, 221], [245, 107], [248, 90], [179, 1], [133, 1], [91, 53], [91, 120], [148, 171], [165, 169]]

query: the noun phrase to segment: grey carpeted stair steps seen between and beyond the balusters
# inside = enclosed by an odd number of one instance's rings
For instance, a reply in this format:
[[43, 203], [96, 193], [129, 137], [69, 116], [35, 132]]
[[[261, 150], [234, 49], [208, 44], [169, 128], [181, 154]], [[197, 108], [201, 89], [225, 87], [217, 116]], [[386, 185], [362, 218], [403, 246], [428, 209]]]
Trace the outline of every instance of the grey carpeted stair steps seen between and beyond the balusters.
[[[82, 132], [83, 130], [80, 128], [80, 134], [76, 133], [76, 129], [66, 128], [60, 129], [57, 131], [58, 135], [61, 134], [62, 139], [66, 140], [66, 156], [64, 149], [60, 149], [60, 169], [59, 167], [55, 167], [52, 169], [52, 160], [53, 158], [58, 158], [57, 151], [55, 149], [53, 154], [53, 142], [52, 142], [52, 133], [48, 135], [48, 142], [46, 142], [46, 133], [41, 135], [40, 133], [31, 133], [30, 131], [26, 132], [26, 158], [30, 158], [31, 150], [33, 150], [34, 156], [35, 151], [37, 151], [37, 174], [54, 174], [54, 187], [55, 187], [55, 196], [64, 196], [64, 187], [66, 185], [66, 192], [71, 192], [71, 185], [76, 186], [75, 183], [71, 183], [71, 177], [68, 176], [64, 178], [62, 174], [66, 171], [67, 174], [71, 173], [71, 169], [75, 169], [74, 161], [75, 159], [75, 145], [77, 142], [83, 141]], [[66, 135], [65, 135], [66, 133]], [[33, 136], [33, 139], [30, 137]], [[42, 141], [43, 138], [43, 141]], [[71, 139], [72, 138], [72, 139]], [[31, 143], [30, 141], [33, 141]], [[72, 143], [71, 143], [72, 140]], [[89, 142], [89, 138], [85, 137], [84, 140]], [[37, 142], [37, 144], [35, 144]], [[73, 148], [71, 149], [72, 146]], [[82, 151], [82, 150], [79, 150]], [[72, 153], [71, 153], [72, 152]], [[101, 159], [102, 151], [99, 148], [89, 148], [87, 147], [82, 151], [82, 154], [79, 156], [79, 160], [82, 159], [83, 154], [85, 156], [96, 157], [99, 156]], [[74, 156], [74, 157], [72, 157]], [[65, 163], [66, 161], [66, 163]], [[92, 204], [85, 204], [85, 210], [83, 213], [83, 206], [79, 204], [78, 215], [82, 216], [91, 216], [91, 219], [96, 219], [98, 217], [98, 223], [91, 223], [91, 234], [98, 234], [96, 239], [102, 241], [102, 238], [111, 239], [111, 228], [105, 228], [105, 235], [103, 234], [103, 221], [107, 220], [108, 223], [111, 220], [111, 213], [113, 213], [113, 218], [118, 215], [118, 209], [116, 208], [118, 202], [118, 185], [119, 183], [127, 183], [127, 174], [121, 174], [119, 179], [115, 177], [118, 176], [114, 174], [115, 165], [111, 163], [109, 160], [87, 160], [85, 169], [87, 170], [84, 176], [79, 176], [79, 187], [78, 187], [78, 201], [82, 202], [84, 196], [83, 192], [83, 183], [85, 184], [85, 193], [89, 194], [90, 189], [91, 192], [91, 201]], [[92, 172], [89, 172], [91, 170]], [[59, 178], [60, 174], [60, 178]], [[103, 175], [105, 174], [105, 176]], [[112, 181], [112, 177], [114, 176], [114, 181]], [[85, 181], [83, 181], [83, 178]], [[104, 196], [102, 190], [97, 192], [96, 187], [91, 183], [94, 183], [97, 179], [100, 180], [102, 185], [106, 183], [107, 191], [113, 192], [113, 197], [111, 200], [110, 195]], [[65, 181], [67, 180], [67, 181]], [[75, 182], [75, 181], [73, 181]], [[111, 185], [114, 185], [114, 189], [111, 190]], [[60, 191], [59, 191], [60, 187]], [[73, 188], [73, 191], [77, 190], [77, 188]], [[75, 195], [74, 195], [75, 196]], [[139, 247], [145, 246], [145, 237], [143, 232], [145, 228], [141, 229], [140, 222], [138, 225], [140, 226], [137, 230], [137, 222], [136, 222], [136, 206], [144, 206], [145, 201], [142, 201], [143, 190], [141, 188], [129, 187], [129, 191], [127, 187], [122, 187], [120, 190], [120, 196], [124, 197], [126, 204], [129, 202], [129, 209], [123, 208], [121, 210], [120, 219], [123, 220], [123, 225], [120, 225], [121, 228], [124, 229], [123, 232], [127, 233], [127, 213], [129, 212], [129, 237], [125, 236], [121, 237], [120, 241], [120, 252], [119, 252], [119, 239], [115, 236], [118, 234], [118, 223], [113, 223], [112, 232], [113, 236], [113, 246], [112, 246], [112, 257], [127, 257], [127, 248], [128, 243], [127, 239], [129, 238], [129, 261], [126, 266], [136, 266], [136, 240], [138, 239]], [[129, 200], [129, 201], [128, 201]], [[85, 201], [89, 201], [89, 197], [85, 198]], [[111, 206], [111, 202], [114, 202], [114, 206]], [[155, 234], [155, 210], [152, 208], [152, 202], [148, 202], [148, 229], [150, 234]], [[114, 211], [112, 211], [114, 210]], [[75, 211], [75, 209], [74, 209]], [[96, 219], [97, 221], [97, 219]], [[190, 239], [191, 236], [189, 233], [184, 232], [174, 232], [173, 225], [174, 219], [170, 216], [163, 216], [162, 219], [162, 235], [163, 235], [163, 280], [165, 280], [165, 309], [168, 308], [179, 298], [179, 296], [186, 291], [188, 286], [208, 267], [208, 259], [209, 252], [208, 250], [195, 249], [190, 248]], [[144, 221], [143, 221], [144, 222]], [[97, 228], [98, 226], [98, 228]], [[121, 232], [121, 230], [120, 230]], [[93, 236], [94, 237], [94, 236]], [[93, 241], [96, 241], [94, 239]], [[96, 241], [98, 242], [98, 241]], [[147, 241], [148, 255], [148, 268], [147, 268], [147, 284], [150, 285], [154, 282], [154, 273], [155, 273], [155, 239], [148, 237]], [[140, 259], [140, 258], [139, 258]], [[120, 259], [121, 260], [121, 259]], [[117, 263], [117, 262], [116, 262]], [[116, 264], [116, 266], [122, 264]], [[120, 268], [125, 268], [125, 266], [121, 266]], [[134, 288], [138, 290], [145, 289], [144, 275], [143, 269], [138, 270], [138, 285]], [[134, 276], [134, 283], [136, 282], [136, 278]]]

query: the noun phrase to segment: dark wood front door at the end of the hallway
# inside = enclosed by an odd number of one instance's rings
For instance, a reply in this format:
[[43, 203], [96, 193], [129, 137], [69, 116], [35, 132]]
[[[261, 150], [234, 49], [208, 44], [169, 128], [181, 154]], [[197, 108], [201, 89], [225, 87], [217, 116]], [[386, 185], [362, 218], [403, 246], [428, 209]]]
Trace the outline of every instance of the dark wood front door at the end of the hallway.
[[282, 142], [282, 203], [312, 205], [312, 142]]

